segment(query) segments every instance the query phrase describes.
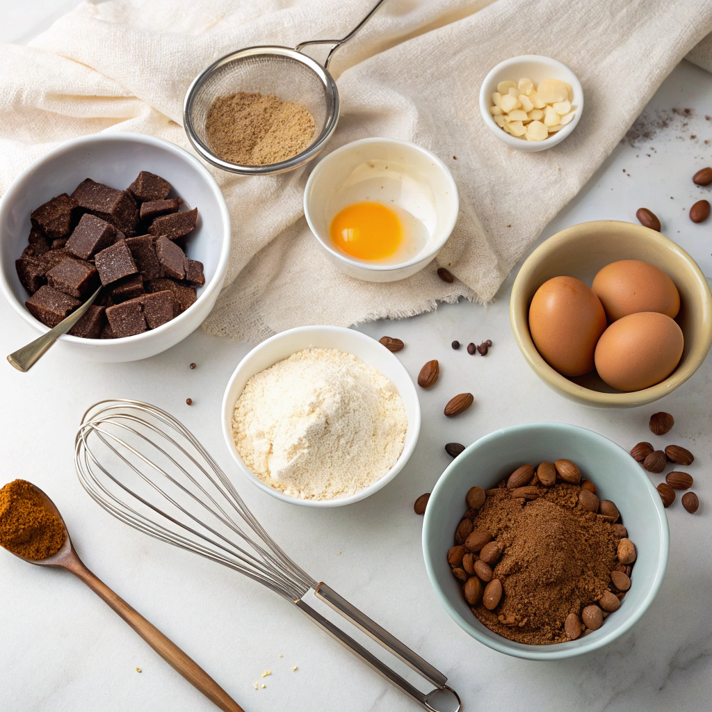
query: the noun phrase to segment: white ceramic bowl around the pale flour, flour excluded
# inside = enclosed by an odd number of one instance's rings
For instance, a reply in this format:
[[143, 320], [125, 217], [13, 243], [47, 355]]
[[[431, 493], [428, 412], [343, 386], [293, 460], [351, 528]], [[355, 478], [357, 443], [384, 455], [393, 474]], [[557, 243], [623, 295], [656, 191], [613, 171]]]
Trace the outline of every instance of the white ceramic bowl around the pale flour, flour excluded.
[[[308, 348], [339, 349], [359, 357], [363, 362], [377, 368], [384, 376], [391, 379], [398, 389], [408, 418], [405, 443], [396, 464], [379, 481], [350, 497], [312, 501], [290, 497], [265, 484], [252, 473], [239, 455], [232, 437], [232, 415], [235, 403], [240, 397], [246, 382], [256, 373], [265, 370], [278, 361], [284, 360], [296, 351]], [[379, 491], [389, 483], [405, 466], [413, 454], [420, 434], [420, 404], [415, 386], [402, 363], [386, 347], [370, 336], [337, 326], [301, 326], [263, 341], [244, 357], [225, 389], [222, 404], [222, 424], [225, 443], [234, 457], [240, 471], [253, 485], [283, 502], [300, 504], [305, 507], [342, 507], [358, 502]]]

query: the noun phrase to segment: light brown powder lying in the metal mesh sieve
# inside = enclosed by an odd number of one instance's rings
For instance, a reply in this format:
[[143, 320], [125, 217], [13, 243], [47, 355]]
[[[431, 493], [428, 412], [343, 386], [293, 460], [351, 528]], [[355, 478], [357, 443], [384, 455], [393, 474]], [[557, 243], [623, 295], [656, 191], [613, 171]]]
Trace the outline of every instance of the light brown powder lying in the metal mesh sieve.
[[314, 117], [302, 105], [274, 94], [237, 92], [208, 110], [208, 142], [220, 158], [244, 166], [286, 161], [314, 140]]

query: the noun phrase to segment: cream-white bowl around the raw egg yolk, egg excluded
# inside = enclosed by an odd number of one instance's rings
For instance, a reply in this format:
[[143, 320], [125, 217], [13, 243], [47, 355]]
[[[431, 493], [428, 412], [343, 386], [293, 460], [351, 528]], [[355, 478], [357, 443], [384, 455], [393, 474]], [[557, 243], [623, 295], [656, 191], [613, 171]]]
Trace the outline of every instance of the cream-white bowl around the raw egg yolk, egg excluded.
[[[363, 201], [395, 204], [426, 226], [424, 246], [408, 261], [373, 264], [347, 255], [330, 239], [333, 217]], [[405, 141], [365, 138], [321, 159], [304, 191], [304, 214], [321, 248], [342, 272], [369, 282], [394, 282], [433, 260], [454, 229], [457, 186], [448, 167], [431, 152]]]

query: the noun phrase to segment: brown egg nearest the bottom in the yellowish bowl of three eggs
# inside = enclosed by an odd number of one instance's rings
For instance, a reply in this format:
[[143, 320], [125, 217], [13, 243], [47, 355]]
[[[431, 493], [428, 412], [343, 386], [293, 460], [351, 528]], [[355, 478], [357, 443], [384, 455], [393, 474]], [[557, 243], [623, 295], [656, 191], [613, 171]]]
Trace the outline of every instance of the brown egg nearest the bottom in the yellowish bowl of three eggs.
[[629, 314], [614, 321], [598, 340], [596, 369], [609, 386], [639, 391], [676, 369], [683, 345], [682, 330], [669, 316]]

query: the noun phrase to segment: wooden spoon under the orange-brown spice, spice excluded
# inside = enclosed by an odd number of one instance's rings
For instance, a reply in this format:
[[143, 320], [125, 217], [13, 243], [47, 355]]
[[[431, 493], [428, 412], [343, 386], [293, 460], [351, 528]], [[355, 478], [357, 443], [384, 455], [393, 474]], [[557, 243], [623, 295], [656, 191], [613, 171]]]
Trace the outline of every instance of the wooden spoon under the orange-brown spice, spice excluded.
[[15, 555], [30, 564], [53, 566], [72, 572], [109, 607], [114, 609], [175, 671], [199, 689], [212, 703], [224, 712], [244, 712], [243, 708], [204, 669], [85, 567], [72, 546], [67, 526], [55, 503], [40, 488], [34, 485], [33, 487], [43, 496], [47, 508], [53, 511], [61, 521], [64, 527], [64, 543], [57, 553], [41, 560], [28, 559], [19, 554]]

